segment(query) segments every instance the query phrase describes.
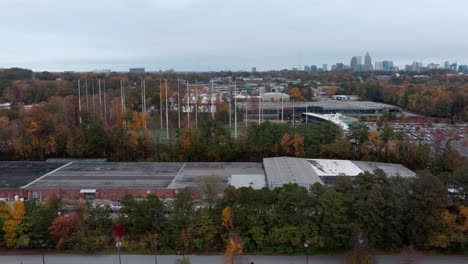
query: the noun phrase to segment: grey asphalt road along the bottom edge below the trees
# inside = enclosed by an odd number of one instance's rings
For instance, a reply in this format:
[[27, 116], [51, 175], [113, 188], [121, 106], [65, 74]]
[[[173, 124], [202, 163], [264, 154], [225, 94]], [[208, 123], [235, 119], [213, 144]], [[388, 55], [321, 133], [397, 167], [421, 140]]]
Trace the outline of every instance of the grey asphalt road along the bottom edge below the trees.
[[[206, 263], [223, 263], [222, 256], [189, 256], [191, 264], [206, 264]], [[166, 255], [158, 256], [158, 264], [173, 264], [181, 256]], [[239, 264], [305, 264], [307, 263], [306, 256], [244, 256], [239, 260]], [[395, 256], [378, 256], [378, 263], [382, 264], [397, 264], [400, 259]], [[0, 256], [2, 264], [42, 264], [41, 255], [28, 256]], [[81, 256], [81, 255], [46, 255], [45, 263], [47, 264], [118, 264], [118, 256], [115, 255], [99, 255], [99, 256]], [[148, 255], [122, 255], [121, 263], [123, 264], [153, 264], [155, 263], [154, 256]], [[314, 264], [335, 264], [343, 263], [341, 256], [309, 256], [308, 263]], [[428, 264], [465, 264], [468, 263], [468, 256], [424, 256], [419, 257], [415, 263]]]

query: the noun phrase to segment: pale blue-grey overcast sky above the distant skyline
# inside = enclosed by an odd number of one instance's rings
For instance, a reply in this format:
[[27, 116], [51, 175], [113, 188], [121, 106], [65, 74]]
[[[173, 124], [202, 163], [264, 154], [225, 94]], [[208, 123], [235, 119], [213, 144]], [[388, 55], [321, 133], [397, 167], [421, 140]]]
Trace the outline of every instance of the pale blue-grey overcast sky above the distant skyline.
[[468, 64], [466, 0], [0, 0], [0, 67], [258, 70]]

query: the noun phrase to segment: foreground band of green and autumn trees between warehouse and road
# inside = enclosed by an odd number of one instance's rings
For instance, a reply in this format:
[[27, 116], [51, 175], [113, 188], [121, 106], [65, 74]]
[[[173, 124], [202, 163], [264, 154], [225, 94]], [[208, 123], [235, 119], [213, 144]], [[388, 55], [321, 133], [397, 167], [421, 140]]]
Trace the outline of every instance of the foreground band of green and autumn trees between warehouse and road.
[[203, 184], [211, 186], [201, 188], [205, 191], [197, 199], [189, 189], [172, 200], [127, 195], [114, 213], [84, 200], [70, 210], [53, 196], [44, 203], [0, 202], [0, 244], [100, 252], [114, 251], [119, 236], [125, 252], [153, 252], [157, 245], [161, 253], [225, 252], [231, 257], [343, 252], [356, 246], [371, 252], [468, 250], [465, 194], [449, 195], [440, 175], [429, 171], [416, 178], [365, 172], [338, 177], [330, 188], [229, 187], [222, 197], [212, 191], [218, 181]]

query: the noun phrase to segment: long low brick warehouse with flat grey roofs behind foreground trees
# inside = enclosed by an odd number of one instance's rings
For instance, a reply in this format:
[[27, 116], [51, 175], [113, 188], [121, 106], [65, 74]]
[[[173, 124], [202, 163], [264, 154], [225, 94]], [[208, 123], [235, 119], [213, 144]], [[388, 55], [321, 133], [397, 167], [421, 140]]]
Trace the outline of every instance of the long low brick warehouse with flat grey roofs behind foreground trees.
[[18, 195], [43, 200], [56, 195], [120, 200], [126, 194], [174, 198], [178, 190], [198, 190], [205, 176], [216, 176], [224, 187], [273, 189], [296, 183], [309, 188], [315, 183], [333, 186], [338, 176], [354, 177], [376, 169], [388, 176], [415, 176], [399, 164], [290, 157], [265, 158], [263, 162], [0, 162], [0, 199], [12, 200]]

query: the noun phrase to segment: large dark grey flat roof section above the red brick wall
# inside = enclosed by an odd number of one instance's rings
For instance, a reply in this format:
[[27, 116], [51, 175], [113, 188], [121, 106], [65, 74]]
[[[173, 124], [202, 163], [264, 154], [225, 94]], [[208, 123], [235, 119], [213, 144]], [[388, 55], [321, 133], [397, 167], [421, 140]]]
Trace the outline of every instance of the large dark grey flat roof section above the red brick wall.
[[67, 163], [27, 185], [35, 189], [166, 189], [184, 163]]

